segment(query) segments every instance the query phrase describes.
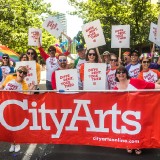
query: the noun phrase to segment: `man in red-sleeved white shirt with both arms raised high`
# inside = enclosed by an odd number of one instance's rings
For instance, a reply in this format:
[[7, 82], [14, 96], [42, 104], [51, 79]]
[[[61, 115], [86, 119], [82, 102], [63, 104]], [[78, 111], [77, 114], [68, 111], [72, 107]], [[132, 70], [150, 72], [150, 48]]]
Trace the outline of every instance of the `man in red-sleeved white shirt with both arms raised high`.
[[[66, 38], [69, 39], [68, 37]], [[38, 39], [38, 49], [40, 51], [40, 55], [46, 61], [46, 88], [47, 90], [52, 90], [51, 76], [52, 73], [59, 68], [59, 64], [56, 57], [57, 50], [55, 46], [51, 45], [48, 48], [48, 54], [47, 54], [41, 46], [40, 34], [37, 34], [37, 39]], [[71, 43], [70, 39], [69, 43]], [[70, 48], [68, 48], [68, 50], [65, 51], [64, 54], [68, 56], [70, 54]]]

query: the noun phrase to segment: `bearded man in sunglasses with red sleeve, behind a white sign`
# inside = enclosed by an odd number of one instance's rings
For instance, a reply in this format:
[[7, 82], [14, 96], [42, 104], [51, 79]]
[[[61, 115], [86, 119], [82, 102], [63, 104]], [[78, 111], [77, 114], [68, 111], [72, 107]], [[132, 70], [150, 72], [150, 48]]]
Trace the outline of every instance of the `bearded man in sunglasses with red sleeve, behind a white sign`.
[[[59, 68], [57, 70], [65, 70], [65, 69], [69, 69], [69, 66], [67, 64], [67, 56], [65, 54], [60, 54], [58, 56], [58, 64], [59, 64]], [[54, 71], [52, 73], [52, 77], [51, 77], [51, 83], [52, 83], [52, 89], [56, 90], [56, 72]]]

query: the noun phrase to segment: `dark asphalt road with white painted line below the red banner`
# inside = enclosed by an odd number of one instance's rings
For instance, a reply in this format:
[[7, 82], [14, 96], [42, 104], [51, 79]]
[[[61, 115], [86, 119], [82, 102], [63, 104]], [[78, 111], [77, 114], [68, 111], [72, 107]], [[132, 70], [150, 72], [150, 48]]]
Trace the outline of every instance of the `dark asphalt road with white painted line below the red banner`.
[[0, 143], [0, 160], [160, 160], [160, 149], [145, 149], [141, 155], [124, 149], [97, 146], [23, 144], [9, 153], [9, 143]]

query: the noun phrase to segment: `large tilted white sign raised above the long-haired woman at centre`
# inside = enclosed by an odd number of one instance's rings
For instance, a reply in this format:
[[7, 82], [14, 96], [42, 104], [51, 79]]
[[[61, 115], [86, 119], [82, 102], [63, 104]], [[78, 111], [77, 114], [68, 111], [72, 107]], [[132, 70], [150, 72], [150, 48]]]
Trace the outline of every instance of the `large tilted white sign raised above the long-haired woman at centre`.
[[87, 49], [97, 48], [106, 44], [100, 20], [84, 24], [82, 26], [82, 33], [87, 44]]

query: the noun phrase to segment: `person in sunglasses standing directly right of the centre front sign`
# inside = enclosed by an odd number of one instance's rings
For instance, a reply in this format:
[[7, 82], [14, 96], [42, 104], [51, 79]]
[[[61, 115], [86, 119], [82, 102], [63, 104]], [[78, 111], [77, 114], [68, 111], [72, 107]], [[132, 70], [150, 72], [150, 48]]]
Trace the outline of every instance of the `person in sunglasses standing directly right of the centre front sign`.
[[107, 85], [106, 88], [112, 90], [116, 86], [115, 72], [118, 65], [118, 57], [115, 54], [110, 55], [110, 66], [111, 68], [107, 70]]

